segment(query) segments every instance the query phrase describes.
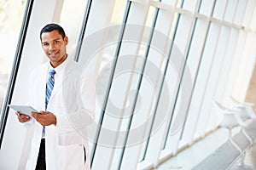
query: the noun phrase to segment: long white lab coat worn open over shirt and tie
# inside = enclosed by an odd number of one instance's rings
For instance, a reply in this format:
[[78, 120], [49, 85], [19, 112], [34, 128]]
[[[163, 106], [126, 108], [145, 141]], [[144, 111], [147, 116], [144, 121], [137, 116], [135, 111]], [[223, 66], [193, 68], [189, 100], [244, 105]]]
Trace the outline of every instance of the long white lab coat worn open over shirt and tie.
[[[95, 78], [87, 73], [81, 76], [82, 70], [79, 69], [81, 67], [72, 59], [67, 58], [64, 62], [66, 62], [65, 71], [59, 75], [58, 72], [55, 74], [58, 80], [55, 80], [47, 109], [55, 114], [57, 123], [56, 126], [45, 127], [46, 169], [88, 170], [90, 156], [86, 126], [95, 117]], [[30, 78], [30, 104], [38, 111], [45, 110], [48, 67], [49, 63], [39, 67]], [[29, 128], [33, 128], [33, 135], [26, 169], [33, 170], [37, 164], [43, 126], [35, 120], [27, 124], [31, 124]], [[84, 159], [86, 159], [85, 164]]]

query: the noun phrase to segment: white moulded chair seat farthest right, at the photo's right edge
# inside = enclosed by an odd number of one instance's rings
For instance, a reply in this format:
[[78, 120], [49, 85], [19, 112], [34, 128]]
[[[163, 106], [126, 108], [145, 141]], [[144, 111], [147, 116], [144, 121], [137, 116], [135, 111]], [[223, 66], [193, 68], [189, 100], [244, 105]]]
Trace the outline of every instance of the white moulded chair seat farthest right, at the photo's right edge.
[[253, 111], [253, 103], [249, 102], [240, 102], [237, 99], [235, 99], [233, 96], [230, 96], [230, 99], [233, 101], [233, 103], [236, 105], [235, 109], [239, 111], [239, 114], [241, 115], [241, 118], [243, 120], [247, 120], [249, 118], [256, 119], [256, 115]]

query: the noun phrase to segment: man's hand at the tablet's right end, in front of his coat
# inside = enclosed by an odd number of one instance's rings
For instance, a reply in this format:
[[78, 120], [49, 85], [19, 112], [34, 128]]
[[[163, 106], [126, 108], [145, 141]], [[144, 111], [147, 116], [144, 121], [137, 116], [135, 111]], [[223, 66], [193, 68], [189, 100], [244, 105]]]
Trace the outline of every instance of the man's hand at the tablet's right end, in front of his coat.
[[32, 116], [43, 126], [56, 125], [56, 116], [49, 111], [32, 112]]

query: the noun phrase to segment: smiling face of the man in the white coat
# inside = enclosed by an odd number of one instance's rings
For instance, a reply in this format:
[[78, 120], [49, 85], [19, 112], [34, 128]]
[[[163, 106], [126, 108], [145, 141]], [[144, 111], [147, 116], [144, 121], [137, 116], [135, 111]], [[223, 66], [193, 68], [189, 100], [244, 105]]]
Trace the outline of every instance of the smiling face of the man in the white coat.
[[44, 32], [41, 35], [42, 48], [44, 53], [48, 56], [50, 64], [55, 68], [67, 58], [66, 45], [68, 38], [61, 37], [61, 34], [57, 31]]

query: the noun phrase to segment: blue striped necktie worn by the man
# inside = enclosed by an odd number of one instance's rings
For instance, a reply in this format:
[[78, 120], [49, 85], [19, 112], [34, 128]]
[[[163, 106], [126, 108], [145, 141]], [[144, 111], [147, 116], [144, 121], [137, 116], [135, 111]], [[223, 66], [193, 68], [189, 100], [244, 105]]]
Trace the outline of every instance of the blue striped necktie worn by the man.
[[[47, 111], [47, 106], [49, 103], [49, 97], [50, 94], [55, 86], [55, 79], [54, 79], [54, 75], [55, 75], [55, 70], [50, 70], [49, 71], [49, 79], [48, 82], [46, 83], [46, 92], [45, 92], [45, 111]], [[45, 136], [45, 127], [43, 127], [43, 138]]]

